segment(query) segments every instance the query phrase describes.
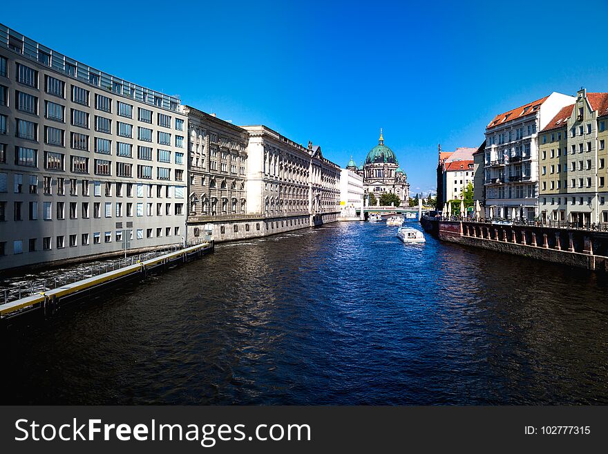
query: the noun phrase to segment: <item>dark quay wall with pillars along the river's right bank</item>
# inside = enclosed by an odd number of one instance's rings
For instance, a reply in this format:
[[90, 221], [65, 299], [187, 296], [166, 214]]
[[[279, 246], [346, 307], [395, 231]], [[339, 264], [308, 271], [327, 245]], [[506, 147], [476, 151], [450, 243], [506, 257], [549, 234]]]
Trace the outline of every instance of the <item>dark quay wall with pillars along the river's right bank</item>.
[[[421, 219], [440, 240], [573, 267], [608, 271], [607, 232]], [[600, 254], [600, 252], [602, 254]]]

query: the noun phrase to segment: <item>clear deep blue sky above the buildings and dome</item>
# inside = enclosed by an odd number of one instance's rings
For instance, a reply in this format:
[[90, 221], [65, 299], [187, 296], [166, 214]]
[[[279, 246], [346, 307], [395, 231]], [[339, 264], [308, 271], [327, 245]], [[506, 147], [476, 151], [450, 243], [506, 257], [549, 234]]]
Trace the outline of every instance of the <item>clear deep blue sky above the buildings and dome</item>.
[[435, 189], [437, 143], [479, 146], [494, 115], [552, 91], [608, 91], [594, 19], [607, 14], [605, 0], [30, 1], [0, 22], [224, 120], [312, 140], [342, 167], [383, 128], [415, 193]]

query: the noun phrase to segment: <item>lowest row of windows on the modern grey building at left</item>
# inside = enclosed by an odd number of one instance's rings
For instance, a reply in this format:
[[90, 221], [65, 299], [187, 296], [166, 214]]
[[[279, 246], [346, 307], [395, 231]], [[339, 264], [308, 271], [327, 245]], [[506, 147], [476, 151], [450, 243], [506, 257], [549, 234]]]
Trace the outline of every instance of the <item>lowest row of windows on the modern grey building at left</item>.
[[[148, 228], [145, 229], [145, 238], [161, 238], [164, 236], [171, 236], [173, 232], [174, 236], [180, 235], [180, 227], [156, 227], [156, 229]], [[103, 234], [103, 236], [102, 236]], [[102, 243], [112, 243], [114, 239], [117, 243], [121, 243], [124, 235], [129, 235], [129, 239], [133, 240], [133, 230], [129, 229], [126, 231], [116, 230], [113, 231], [95, 231], [93, 232], [93, 244], [99, 245]], [[155, 234], [155, 235], [154, 235]], [[79, 238], [80, 237], [80, 238]], [[78, 239], [80, 239], [80, 245], [88, 246], [91, 244], [91, 234], [73, 234], [73, 235], [59, 235], [55, 236], [55, 249], [63, 249], [66, 247], [66, 238], [68, 239], [67, 245], [69, 247], [77, 247]], [[135, 229], [135, 238], [137, 240], [144, 239], [144, 229]], [[35, 252], [40, 250], [38, 245], [39, 238], [30, 238], [28, 241], [28, 252]], [[42, 250], [50, 251], [53, 249], [53, 237], [45, 236], [42, 238]], [[23, 254], [23, 240], [13, 240], [12, 242], [12, 253]], [[6, 255], [6, 241], [0, 242], [0, 256]]]

